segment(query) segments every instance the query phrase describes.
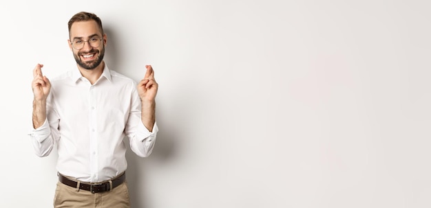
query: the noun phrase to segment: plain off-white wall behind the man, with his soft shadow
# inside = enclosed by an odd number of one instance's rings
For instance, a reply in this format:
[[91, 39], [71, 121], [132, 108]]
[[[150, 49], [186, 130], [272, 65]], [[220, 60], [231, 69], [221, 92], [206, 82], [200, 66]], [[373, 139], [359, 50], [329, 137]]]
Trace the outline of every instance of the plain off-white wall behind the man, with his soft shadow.
[[160, 132], [127, 154], [134, 208], [431, 207], [430, 1], [1, 1], [0, 207], [52, 207], [32, 69], [101, 17], [111, 69], [153, 65]]

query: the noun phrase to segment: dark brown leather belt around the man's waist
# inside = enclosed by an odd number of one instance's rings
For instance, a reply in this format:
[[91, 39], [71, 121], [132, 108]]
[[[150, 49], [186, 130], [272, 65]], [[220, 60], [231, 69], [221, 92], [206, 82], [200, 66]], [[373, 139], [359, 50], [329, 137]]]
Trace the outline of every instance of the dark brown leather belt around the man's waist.
[[[100, 193], [100, 192], [107, 192], [111, 189], [114, 189], [114, 187], [117, 187], [118, 185], [122, 184], [125, 181], [125, 178], [126, 178], [126, 174], [124, 172], [120, 176], [117, 176], [116, 178], [114, 178], [112, 181], [107, 181], [104, 183], [79, 182], [79, 189], [87, 190], [89, 192], [92, 192], [93, 194]], [[65, 185], [68, 185], [74, 188], [76, 188], [76, 186], [78, 185], [78, 181], [72, 181], [60, 173], [59, 173], [59, 181]]]

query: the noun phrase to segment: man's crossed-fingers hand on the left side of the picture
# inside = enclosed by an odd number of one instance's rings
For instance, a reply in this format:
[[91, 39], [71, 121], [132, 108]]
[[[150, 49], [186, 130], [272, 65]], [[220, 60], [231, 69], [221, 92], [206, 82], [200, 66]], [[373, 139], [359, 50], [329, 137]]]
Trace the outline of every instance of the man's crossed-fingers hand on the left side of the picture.
[[45, 102], [50, 94], [51, 82], [42, 74], [43, 65], [37, 64], [33, 69], [32, 89], [35, 102]]

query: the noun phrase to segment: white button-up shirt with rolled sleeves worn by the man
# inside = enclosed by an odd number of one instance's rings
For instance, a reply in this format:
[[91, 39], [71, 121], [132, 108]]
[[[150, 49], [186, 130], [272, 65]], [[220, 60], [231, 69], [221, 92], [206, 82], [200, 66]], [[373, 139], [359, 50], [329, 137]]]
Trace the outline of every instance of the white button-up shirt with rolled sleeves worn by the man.
[[158, 127], [150, 132], [141, 121], [136, 82], [105, 65], [94, 84], [78, 69], [50, 80], [47, 119], [30, 132], [36, 154], [45, 157], [56, 146], [56, 169], [80, 181], [109, 180], [127, 168], [128, 137], [140, 157], [151, 154]]

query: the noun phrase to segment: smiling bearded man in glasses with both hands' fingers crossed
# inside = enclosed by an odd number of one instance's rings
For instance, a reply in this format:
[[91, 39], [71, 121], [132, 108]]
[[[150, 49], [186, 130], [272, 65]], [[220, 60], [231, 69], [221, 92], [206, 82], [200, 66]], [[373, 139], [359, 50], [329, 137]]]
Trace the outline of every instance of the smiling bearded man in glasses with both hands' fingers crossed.
[[43, 65], [34, 67], [32, 145], [39, 157], [57, 148], [54, 207], [130, 207], [123, 139], [138, 156], [151, 154], [158, 132], [154, 71], [147, 65], [136, 84], [110, 70], [103, 61], [107, 35], [95, 14], [79, 12], [68, 26], [77, 68], [48, 80]]

